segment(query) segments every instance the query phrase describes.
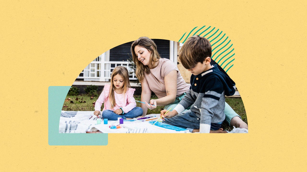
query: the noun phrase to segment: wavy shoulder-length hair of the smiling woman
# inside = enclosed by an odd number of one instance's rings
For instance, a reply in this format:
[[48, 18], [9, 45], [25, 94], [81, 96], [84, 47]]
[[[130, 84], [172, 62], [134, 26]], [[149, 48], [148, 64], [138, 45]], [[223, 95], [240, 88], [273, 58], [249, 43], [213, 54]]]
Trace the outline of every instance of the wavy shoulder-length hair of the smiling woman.
[[161, 57], [157, 51], [157, 45], [153, 42], [152, 39], [149, 39], [148, 37], [140, 37], [131, 44], [131, 54], [133, 62], [136, 65], [135, 75], [138, 80], [142, 82], [145, 77], [145, 73], [150, 73], [150, 69], [148, 66], [143, 65], [143, 63], [138, 60], [138, 56], [135, 54], [134, 51], [134, 48], [137, 45], [146, 48], [151, 53], [150, 63], [152, 66], [154, 66], [154, 64], [158, 62]]

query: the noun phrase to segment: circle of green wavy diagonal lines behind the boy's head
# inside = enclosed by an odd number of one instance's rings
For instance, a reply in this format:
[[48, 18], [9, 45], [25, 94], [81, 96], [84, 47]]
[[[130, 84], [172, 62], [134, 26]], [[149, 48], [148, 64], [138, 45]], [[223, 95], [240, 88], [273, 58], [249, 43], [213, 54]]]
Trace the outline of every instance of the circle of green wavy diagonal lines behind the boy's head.
[[[181, 39], [178, 41], [180, 43], [185, 43], [188, 37], [192, 36], [191, 33], [198, 28], [193, 28], [190, 32], [185, 32]], [[198, 34], [198, 32], [200, 32]], [[200, 27], [193, 35], [199, 35], [207, 38], [212, 46], [212, 59], [217, 62], [224, 70], [226, 69], [226, 73], [231, 67], [234, 65], [234, 48], [232, 48], [231, 40], [226, 34], [222, 34], [223, 31], [211, 26], [202, 26]], [[186, 36], [186, 33], [189, 33]], [[183, 41], [182, 41], [183, 40]], [[214, 57], [214, 58], [213, 58]]]

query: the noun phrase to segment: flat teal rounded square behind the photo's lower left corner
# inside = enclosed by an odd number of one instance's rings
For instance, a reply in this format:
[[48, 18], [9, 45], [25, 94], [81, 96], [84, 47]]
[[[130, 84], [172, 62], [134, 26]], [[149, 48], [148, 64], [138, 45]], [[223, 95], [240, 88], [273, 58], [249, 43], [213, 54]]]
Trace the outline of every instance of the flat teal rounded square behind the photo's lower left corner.
[[107, 145], [108, 133], [59, 133], [60, 114], [70, 86], [48, 88], [49, 145]]

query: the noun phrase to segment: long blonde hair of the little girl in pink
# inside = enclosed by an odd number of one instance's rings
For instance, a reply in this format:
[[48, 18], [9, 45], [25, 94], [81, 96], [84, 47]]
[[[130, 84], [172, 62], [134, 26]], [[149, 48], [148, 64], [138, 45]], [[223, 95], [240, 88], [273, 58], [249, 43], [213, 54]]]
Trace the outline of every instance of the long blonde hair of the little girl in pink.
[[124, 86], [122, 88], [122, 89], [124, 89], [123, 93], [126, 94], [128, 88], [131, 88], [127, 68], [122, 67], [122, 66], [115, 67], [112, 71], [112, 74], [111, 74], [111, 87], [110, 87], [110, 93], [109, 93], [109, 100], [110, 100], [110, 103], [111, 103], [111, 108], [115, 107], [115, 104], [116, 104], [115, 96], [114, 96], [115, 87], [114, 87], [114, 84], [113, 84], [113, 77], [117, 74], [119, 74], [124, 79]]

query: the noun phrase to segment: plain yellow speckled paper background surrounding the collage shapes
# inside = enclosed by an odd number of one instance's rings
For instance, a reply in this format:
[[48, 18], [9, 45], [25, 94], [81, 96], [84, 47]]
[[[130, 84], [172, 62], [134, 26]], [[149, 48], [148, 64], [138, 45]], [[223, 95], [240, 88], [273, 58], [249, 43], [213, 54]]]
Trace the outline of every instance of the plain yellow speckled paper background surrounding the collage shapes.
[[[5, 171], [303, 171], [306, 1], [2, 2]], [[103, 52], [140, 36], [178, 41], [219, 28], [248, 134], [109, 134], [107, 146], [48, 145], [48, 87], [70, 86]]]

